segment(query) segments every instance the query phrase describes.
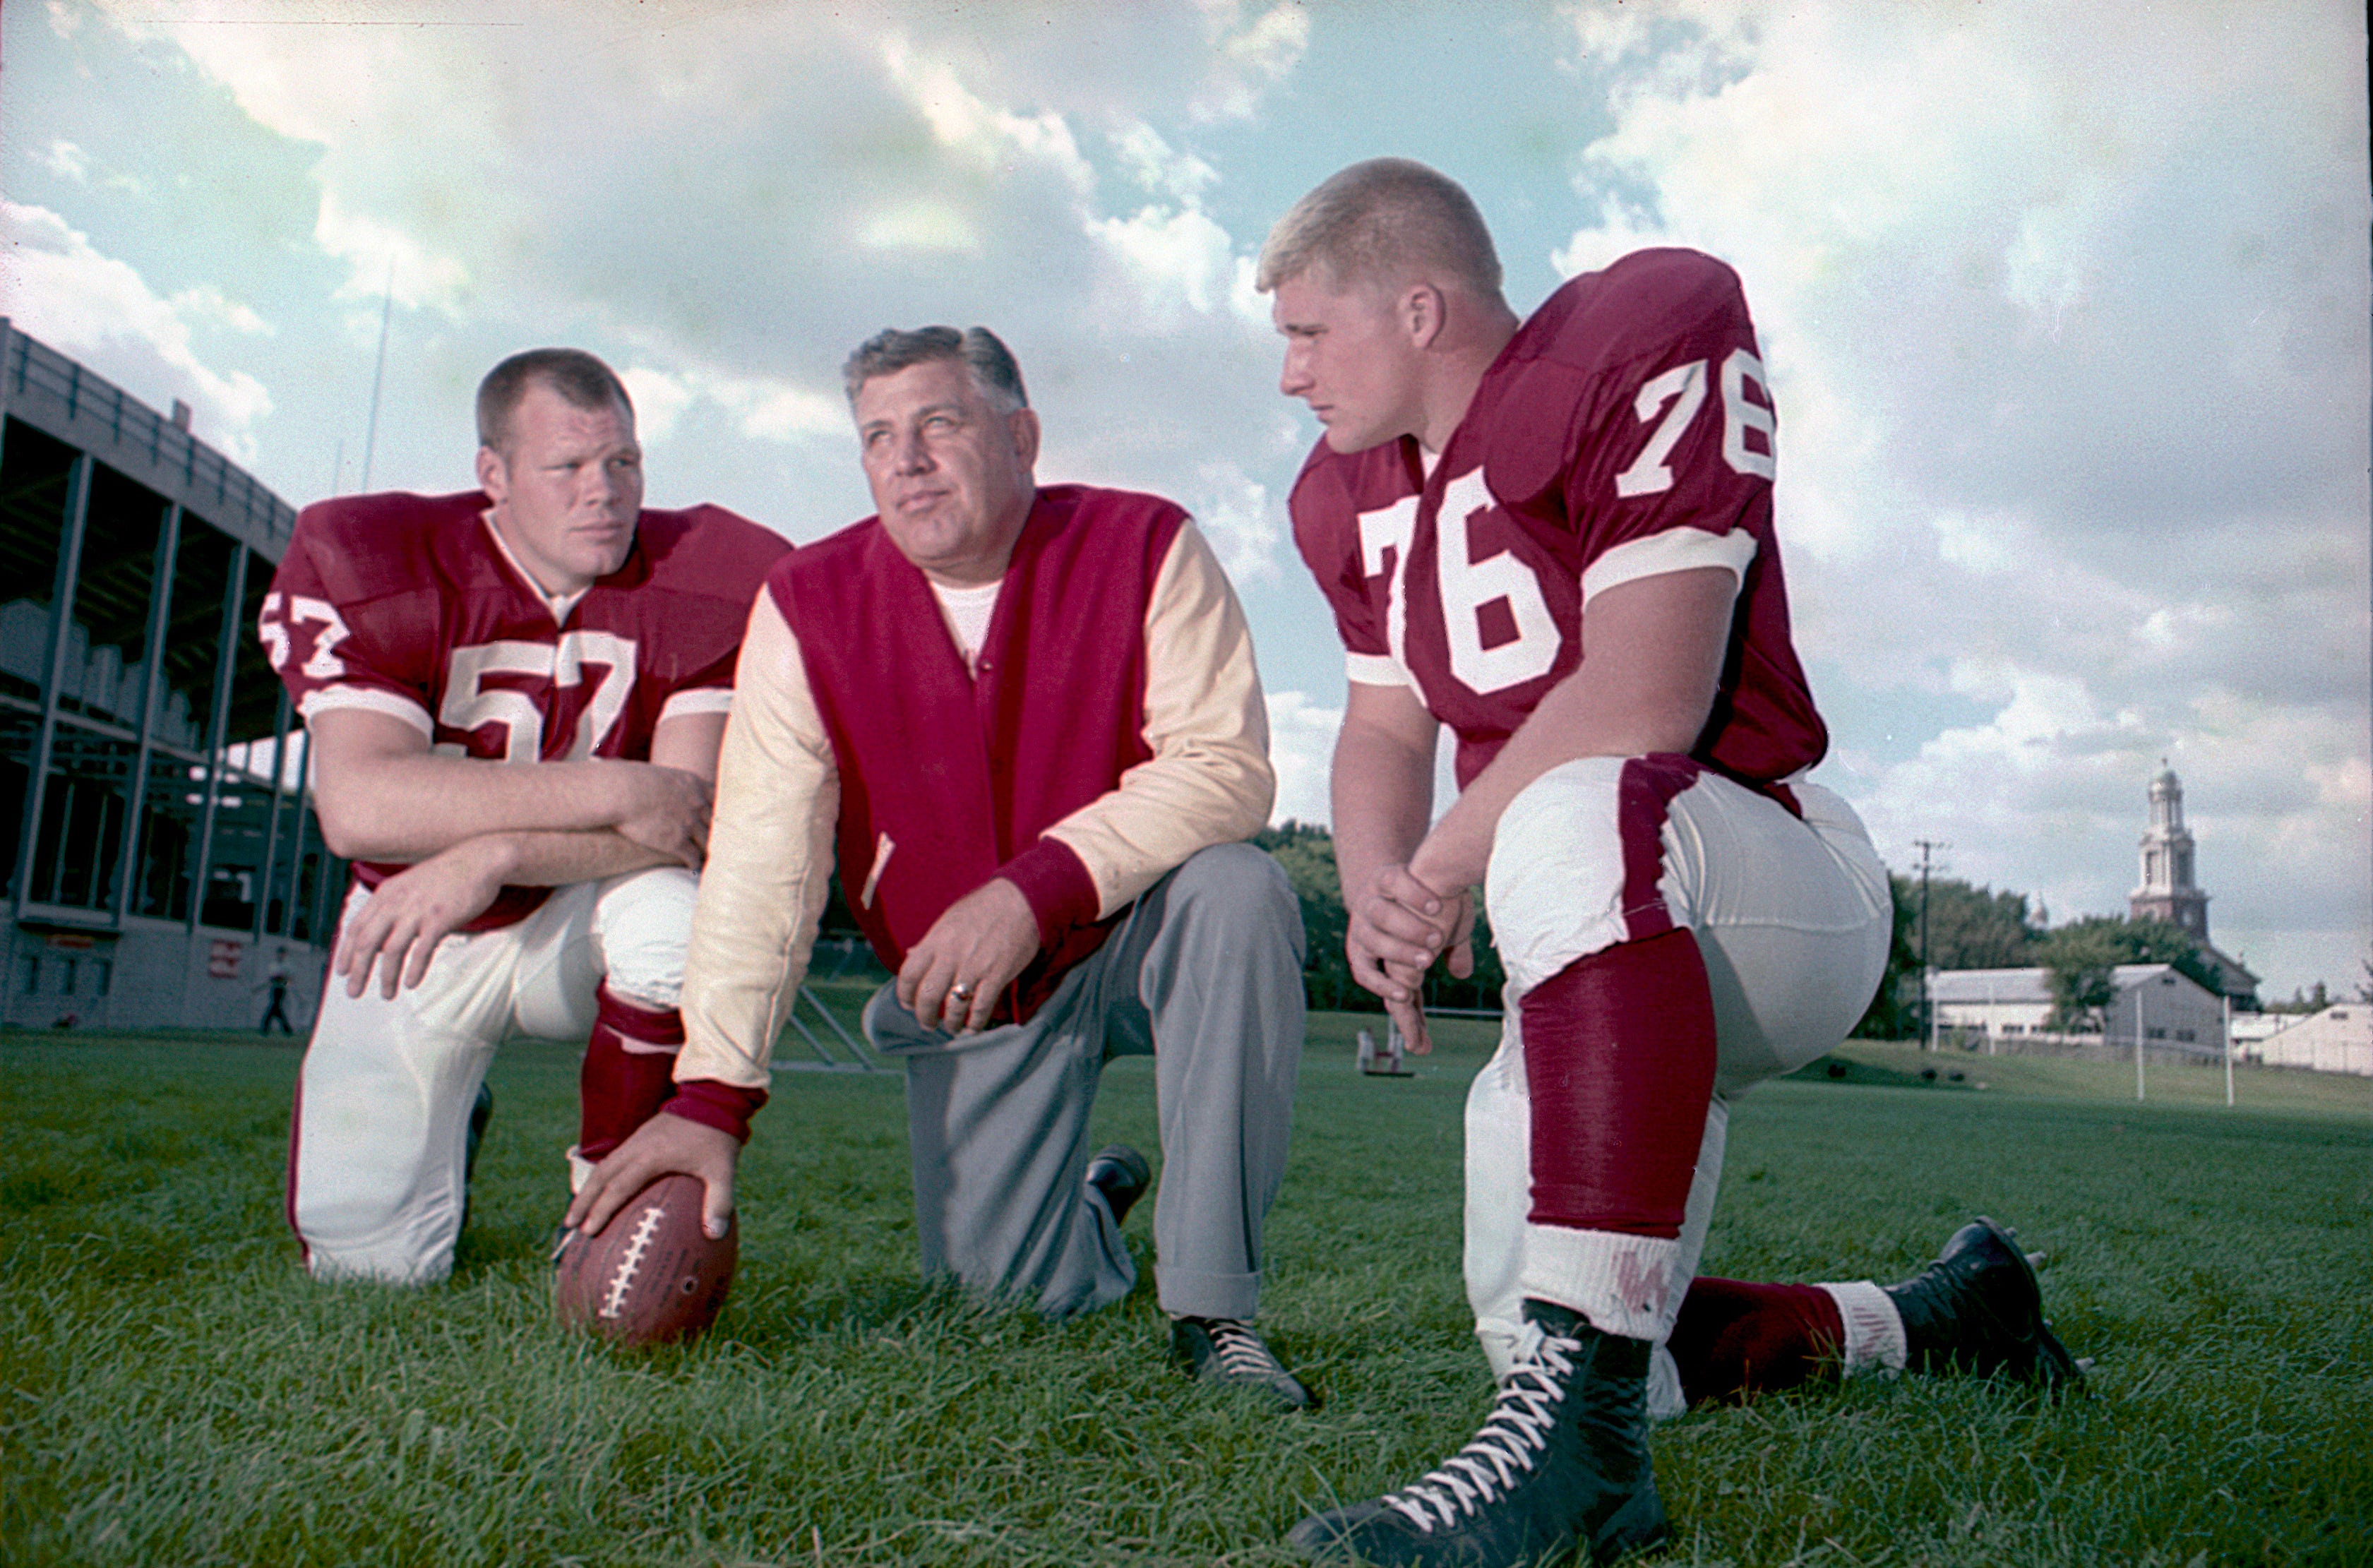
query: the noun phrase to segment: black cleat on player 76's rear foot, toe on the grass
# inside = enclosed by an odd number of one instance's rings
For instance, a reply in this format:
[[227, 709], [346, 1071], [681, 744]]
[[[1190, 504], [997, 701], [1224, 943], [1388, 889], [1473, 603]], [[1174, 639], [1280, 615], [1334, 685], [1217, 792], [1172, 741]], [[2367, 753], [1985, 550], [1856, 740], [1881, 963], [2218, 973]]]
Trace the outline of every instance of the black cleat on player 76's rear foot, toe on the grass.
[[1970, 1371], [2083, 1388], [2083, 1369], [2043, 1321], [2043, 1288], [2010, 1231], [1984, 1215], [1953, 1231], [1936, 1262], [1882, 1286], [1903, 1317], [1913, 1371]]

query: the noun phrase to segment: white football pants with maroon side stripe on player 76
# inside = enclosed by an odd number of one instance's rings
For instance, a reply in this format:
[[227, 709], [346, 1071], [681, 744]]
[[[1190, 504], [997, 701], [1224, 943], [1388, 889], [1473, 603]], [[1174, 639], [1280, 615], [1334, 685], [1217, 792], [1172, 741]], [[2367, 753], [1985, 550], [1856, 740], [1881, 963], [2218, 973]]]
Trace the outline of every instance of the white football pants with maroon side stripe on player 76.
[[[1820, 785], [1792, 785], [1799, 818], [1720, 773], [1699, 773], [1663, 802], [1659, 821], [1640, 811], [1637, 788], [1626, 792], [1623, 769], [1621, 757], [1550, 769], [1509, 802], [1493, 840], [1485, 909], [1507, 965], [1507, 1022], [1467, 1094], [1467, 1298], [1495, 1376], [1507, 1373], [1526, 1295], [1656, 1340], [1652, 1402], [1671, 1414], [1680, 1381], [1663, 1338], [1713, 1219], [1728, 1101], [1853, 1030], [1887, 970], [1894, 897], [1860, 818]], [[1519, 1003], [1576, 958], [1637, 935], [1656, 899], [1673, 928], [1697, 937], [1716, 1018], [1713, 1103], [1680, 1241], [1533, 1226]], [[1642, 1271], [1666, 1281], [1644, 1307], [1637, 1290], [1592, 1290], [1592, 1281]], [[1559, 1290], [1542, 1281], [1583, 1283]]]

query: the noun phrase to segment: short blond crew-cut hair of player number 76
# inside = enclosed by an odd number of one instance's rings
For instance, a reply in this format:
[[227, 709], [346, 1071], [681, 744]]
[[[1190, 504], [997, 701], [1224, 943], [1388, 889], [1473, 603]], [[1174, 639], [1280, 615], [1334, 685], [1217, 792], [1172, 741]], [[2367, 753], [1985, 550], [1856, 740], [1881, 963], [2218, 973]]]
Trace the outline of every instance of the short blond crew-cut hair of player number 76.
[[1474, 197], [1412, 159], [1353, 164], [1296, 202], [1260, 247], [1253, 287], [1267, 294], [1312, 268], [1334, 289], [1431, 275], [1500, 294], [1500, 251]]

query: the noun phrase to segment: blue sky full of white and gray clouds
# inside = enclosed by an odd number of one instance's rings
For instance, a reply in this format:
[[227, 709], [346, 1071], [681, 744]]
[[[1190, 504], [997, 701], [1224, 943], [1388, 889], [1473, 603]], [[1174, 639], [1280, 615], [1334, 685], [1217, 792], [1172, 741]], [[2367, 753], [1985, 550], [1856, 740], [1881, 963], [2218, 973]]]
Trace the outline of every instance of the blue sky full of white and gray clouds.
[[[470, 391], [622, 368], [653, 503], [869, 510], [840, 358], [985, 323], [1044, 479], [1191, 505], [1279, 816], [1341, 657], [1251, 259], [1334, 168], [1467, 183], [1509, 297], [1640, 244], [1747, 280], [1820, 778], [1887, 859], [2124, 913], [2183, 776], [2212, 935], [2364, 977], [2364, 12], [1146, 0], [12, 0], [0, 311], [294, 503], [463, 489]], [[368, 415], [382, 297], [392, 337]]]

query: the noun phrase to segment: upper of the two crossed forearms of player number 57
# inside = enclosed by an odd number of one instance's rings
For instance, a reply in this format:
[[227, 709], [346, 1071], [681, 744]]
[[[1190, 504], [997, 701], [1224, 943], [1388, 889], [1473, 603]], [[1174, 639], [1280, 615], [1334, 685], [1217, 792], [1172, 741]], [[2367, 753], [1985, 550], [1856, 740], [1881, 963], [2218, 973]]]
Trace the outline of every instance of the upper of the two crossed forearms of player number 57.
[[422, 861], [489, 833], [589, 833], [634, 816], [638, 761], [510, 766], [475, 757], [323, 764], [323, 840], [349, 861]]

